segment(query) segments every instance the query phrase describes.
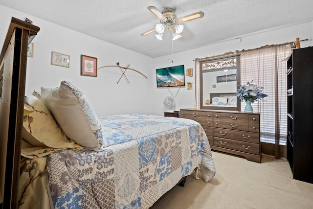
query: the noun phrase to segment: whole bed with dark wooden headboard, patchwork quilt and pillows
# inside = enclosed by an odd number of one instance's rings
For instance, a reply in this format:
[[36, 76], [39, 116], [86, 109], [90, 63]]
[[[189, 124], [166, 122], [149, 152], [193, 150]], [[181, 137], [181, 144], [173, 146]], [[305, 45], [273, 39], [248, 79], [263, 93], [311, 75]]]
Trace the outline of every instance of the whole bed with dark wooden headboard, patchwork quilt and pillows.
[[[201, 168], [204, 182], [215, 175], [208, 139], [193, 120], [98, 117], [84, 93], [68, 81], [25, 96], [26, 49], [39, 28], [12, 22], [6, 40], [10, 31], [26, 28], [20, 43], [25, 51], [2, 56], [8, 41], [1, 51], [0, 108], [1, 117], [8, 113], [3, 122], [9, 127], [1, 128], [6, 162], [0, 164], [1, 208], [147, 209], [194, 169]], [[30, 33], [32, 28], [37, 32]], [[16, 68], [4, 65], [12, 58], [20, 63], [14, 82], [7, 72], [15, 74]], [[18, 93], [11, 86], [19, 87]]]

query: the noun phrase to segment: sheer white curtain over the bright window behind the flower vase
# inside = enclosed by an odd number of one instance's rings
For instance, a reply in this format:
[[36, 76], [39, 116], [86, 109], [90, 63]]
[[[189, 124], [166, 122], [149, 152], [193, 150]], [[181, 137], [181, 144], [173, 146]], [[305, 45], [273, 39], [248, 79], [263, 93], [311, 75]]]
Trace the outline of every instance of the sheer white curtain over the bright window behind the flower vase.
[[[260, 112], [261, 141], [274, 145], [276, 158], [282, 157], [279, 145], [286, 145], [287, 138], [287, 62], [291, 43], [263, 46], [241, 51], [241, 84], [247, 81], [265, 89], [264, 101], [252, 104]], [[242, 102], [244, 111], [246, 104]]]

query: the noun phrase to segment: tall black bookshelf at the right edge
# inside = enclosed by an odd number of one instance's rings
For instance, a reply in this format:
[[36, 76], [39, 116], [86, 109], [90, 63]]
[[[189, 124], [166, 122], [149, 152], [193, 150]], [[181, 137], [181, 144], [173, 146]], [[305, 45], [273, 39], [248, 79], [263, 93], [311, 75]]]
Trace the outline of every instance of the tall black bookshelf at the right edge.
[[287, 61], [287, 159], [293, 179], [313, 184], [313, 47]]

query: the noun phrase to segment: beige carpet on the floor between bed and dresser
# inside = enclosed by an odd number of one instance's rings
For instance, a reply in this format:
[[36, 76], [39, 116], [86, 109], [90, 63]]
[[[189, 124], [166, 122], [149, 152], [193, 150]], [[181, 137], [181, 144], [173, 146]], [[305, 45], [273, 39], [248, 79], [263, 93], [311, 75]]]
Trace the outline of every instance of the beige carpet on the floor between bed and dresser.
[[188, 176], [151, 209], [313, 209], [313, 184], [292, 179], [289, 163], [263, 155], [262, 163], [212, 152], [216, 175], [208, 183]]

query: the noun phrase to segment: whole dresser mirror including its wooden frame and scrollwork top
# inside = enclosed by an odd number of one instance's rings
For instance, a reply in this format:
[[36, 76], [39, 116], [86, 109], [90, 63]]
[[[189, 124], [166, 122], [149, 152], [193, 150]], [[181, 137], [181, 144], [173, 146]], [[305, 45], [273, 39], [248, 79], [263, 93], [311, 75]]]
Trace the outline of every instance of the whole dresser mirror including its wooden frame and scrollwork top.
[[200, 109], [240, 111], [240, 55], [202, 60], [199, 64]]

